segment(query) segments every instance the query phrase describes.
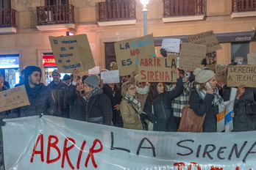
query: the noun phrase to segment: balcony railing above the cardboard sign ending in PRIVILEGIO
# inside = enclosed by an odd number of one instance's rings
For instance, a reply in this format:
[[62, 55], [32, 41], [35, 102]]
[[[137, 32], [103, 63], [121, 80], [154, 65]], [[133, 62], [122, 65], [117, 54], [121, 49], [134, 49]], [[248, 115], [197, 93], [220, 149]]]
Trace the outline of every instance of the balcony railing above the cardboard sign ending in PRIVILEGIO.
[[38, 25], [74, 23], [74, 6], [71, 4], [37, 7]]

